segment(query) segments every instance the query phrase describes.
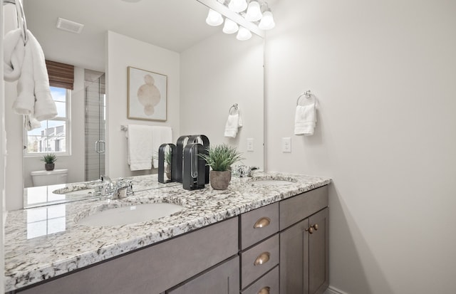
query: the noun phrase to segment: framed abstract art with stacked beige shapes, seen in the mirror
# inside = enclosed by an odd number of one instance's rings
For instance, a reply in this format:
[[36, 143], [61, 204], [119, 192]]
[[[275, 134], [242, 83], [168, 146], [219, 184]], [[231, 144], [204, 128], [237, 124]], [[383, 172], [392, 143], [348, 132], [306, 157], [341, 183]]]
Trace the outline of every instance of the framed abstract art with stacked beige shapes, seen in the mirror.
[[127, 117], [133, 120], [167, 120], [167, 75], [128, 66]]

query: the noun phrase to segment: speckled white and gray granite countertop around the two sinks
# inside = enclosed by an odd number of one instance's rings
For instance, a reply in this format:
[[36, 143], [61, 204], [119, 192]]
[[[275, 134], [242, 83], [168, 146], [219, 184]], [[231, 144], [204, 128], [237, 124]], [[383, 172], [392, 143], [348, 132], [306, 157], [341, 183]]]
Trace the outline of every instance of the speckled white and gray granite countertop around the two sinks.
[[[144, 184], [145, 179], [138, 177], [138, 182]], [[291, 182], [252, 184], [255, 179]], [[258, 172], [254, 178], [233, 178], [223, 191], [214, 190], [209, 184], [194, 191], [182, 189], [181, 184], [138, 191], [133, 178], [135, 195], [125, 199], [88, 199], [9, 211], [4, 242], [5, 291], [68, 273], [329, 183], [331, 179], [323, 177]], [[180, 204], [184, 209], [161, 219], [123, 226], [91, 227], [77, 223], [102, 209], [160, 202]]]

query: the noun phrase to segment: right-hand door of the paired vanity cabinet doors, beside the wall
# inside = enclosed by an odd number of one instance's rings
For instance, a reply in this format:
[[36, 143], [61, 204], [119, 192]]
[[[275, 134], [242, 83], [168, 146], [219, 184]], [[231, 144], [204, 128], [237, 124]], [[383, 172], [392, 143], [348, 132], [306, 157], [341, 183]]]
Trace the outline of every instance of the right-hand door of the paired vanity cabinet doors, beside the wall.
[[321, 294], [328, 288], [328, 209], [309, 218], [309, 294]]

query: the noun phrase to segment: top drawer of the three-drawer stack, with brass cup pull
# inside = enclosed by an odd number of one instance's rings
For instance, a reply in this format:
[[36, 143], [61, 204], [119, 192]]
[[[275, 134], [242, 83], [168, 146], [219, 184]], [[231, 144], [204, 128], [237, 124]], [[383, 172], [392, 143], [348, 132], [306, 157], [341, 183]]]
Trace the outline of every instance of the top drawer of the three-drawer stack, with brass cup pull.
[[279, 231], [279, 202], [241, 214], [241, 250]]

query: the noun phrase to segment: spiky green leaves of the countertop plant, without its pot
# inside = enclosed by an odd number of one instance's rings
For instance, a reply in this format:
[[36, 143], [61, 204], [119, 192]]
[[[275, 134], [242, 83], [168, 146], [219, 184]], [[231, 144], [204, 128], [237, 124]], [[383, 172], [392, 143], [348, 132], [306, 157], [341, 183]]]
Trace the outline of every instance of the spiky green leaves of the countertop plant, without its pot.
[[237, 151], [236, 147], [228, 146], [226, 144], [215, 145], [206, 150], [207, 154], [199, 154], [199, 157], [206, 160], [207, 165], [217, 172], [227, 171], [234, 162], [244, 159], [241, 157], [242, 154]]

